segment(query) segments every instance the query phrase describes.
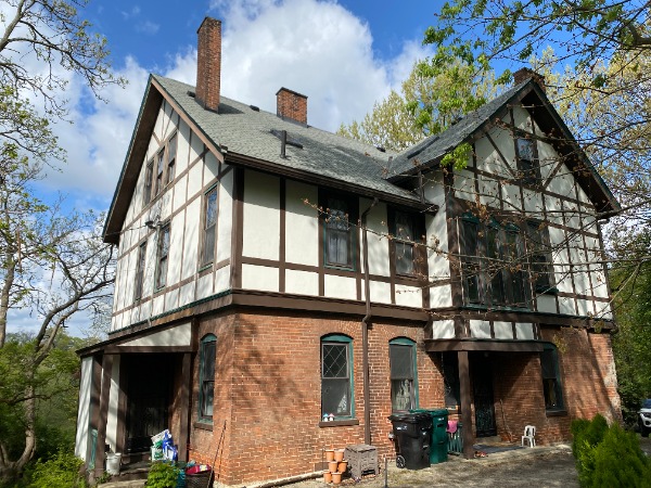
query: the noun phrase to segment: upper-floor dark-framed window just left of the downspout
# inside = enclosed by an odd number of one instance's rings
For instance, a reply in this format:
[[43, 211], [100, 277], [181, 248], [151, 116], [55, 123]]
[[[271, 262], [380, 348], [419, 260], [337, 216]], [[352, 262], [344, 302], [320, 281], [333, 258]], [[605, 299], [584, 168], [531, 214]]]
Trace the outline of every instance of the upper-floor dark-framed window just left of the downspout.
[[349, 223], [348, 204], [343, 198], [328, 198], [326, 265], [353, 268], [353, 228]]

